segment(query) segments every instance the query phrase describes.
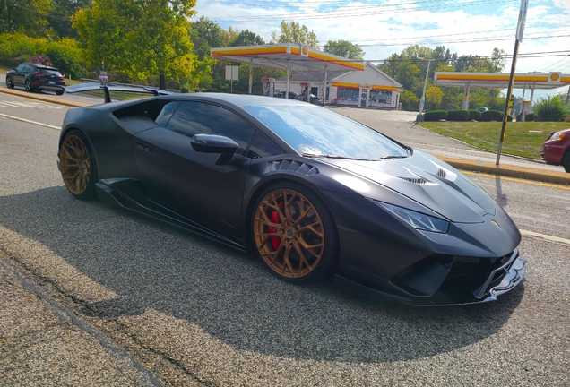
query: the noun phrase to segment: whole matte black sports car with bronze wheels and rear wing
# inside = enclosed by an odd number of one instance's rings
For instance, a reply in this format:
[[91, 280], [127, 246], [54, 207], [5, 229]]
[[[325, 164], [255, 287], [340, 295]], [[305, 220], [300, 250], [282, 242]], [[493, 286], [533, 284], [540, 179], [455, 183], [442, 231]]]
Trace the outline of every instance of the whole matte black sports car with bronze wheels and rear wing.
[[292, 99], [195, 93], [73, 108], [58, 157], [74, 196], [250, 247], [283, 280], [335, 273], [367, 296], [455, 305], [495, 300], [525, 273], [514, 222], [461, 172]]

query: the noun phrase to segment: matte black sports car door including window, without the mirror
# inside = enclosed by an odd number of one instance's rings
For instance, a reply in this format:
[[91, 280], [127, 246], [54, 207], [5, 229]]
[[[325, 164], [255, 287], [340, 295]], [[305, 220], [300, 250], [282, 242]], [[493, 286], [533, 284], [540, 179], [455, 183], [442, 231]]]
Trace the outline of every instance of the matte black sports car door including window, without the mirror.
[[[202, 101], [171, 102], [163, 113], [156, 119], [161, 126], [134, 137], [139, 179], [161, 202], [210, 228], [237, 236], [250, 163], [244, 152], [254, 126], [226, 107]], [[190, 139], [198, 133], [224, 135], [238, 142], [234, 159], [218, 165], [220, 154], [195, 151]]]

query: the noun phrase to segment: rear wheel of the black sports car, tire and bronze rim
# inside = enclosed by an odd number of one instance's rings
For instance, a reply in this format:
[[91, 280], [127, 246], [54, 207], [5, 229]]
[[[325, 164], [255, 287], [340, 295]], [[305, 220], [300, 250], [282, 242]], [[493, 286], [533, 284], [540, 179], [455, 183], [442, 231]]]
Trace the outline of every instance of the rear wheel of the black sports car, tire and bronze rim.
[[59, 146], [59, 169], [67, 190], [78, 199], [89, 200], [97, 195], [97, 164], [91, 144], [85, 136], [71, 130]]

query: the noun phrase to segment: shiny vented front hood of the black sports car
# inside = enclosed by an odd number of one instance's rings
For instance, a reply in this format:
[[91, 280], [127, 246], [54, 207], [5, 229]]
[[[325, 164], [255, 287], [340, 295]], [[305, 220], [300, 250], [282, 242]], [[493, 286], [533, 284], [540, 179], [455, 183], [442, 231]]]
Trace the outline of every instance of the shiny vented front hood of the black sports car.
[[419, 150], [404, 159], [320, 160], [375, 183], [378, 189], [365, 194], [370, 199], [385, 201], [389, 188], [456, 223], [480, 223], [497, 212], [495, 200], [467, 176]]

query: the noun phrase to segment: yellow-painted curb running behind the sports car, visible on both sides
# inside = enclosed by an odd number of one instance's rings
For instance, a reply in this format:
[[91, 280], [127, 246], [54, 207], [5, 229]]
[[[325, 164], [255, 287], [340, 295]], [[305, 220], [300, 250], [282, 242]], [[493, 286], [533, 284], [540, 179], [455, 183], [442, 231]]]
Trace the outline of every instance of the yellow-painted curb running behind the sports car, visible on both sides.
[[[55, 105], [62, 105], [65, 107], [91, 106], [89, 104], [83, 104], [81, 102], [68, 101], [65, 99], [60, 99], [58, 97], [41, 95], [38, 93], [31, 94], [29, 92], [20, 91], [20, 90], [0, 89], [0, 93], [13, 95], [17, 97], [23, 97], [27, 99], [36, 99], [39, 101], [48, 102]], [[454, 168], [467, 170], [471, 172], [481, 172], [489, 175], [521, 178], [525, 180], [534, 180], [534, 181], [552, 183], [557, 185], [570, 185], [570, 174], [566, 172], [550, 171], [540, 168], [518, 167], [507, 164], [503, 164], [497, 167], [497, 165], [488, 161], [455, 159], [445, 156], [436, 156], [436, 158], [445, 161], [447, 164], [450, 164]]]

